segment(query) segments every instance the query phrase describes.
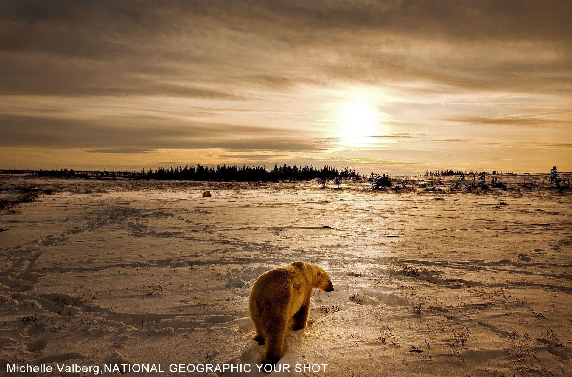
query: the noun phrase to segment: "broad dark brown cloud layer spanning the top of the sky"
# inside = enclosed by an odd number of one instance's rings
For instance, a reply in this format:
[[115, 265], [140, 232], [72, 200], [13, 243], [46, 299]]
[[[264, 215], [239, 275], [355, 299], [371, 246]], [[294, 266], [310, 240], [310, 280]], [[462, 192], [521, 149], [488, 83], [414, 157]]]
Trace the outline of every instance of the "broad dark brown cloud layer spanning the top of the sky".
[[336, 79], [571, 85], [572, 5], [561, 1], [34, 0], [3, 2], [0, 14], [3, 93], [235, 98], [244, 85]]

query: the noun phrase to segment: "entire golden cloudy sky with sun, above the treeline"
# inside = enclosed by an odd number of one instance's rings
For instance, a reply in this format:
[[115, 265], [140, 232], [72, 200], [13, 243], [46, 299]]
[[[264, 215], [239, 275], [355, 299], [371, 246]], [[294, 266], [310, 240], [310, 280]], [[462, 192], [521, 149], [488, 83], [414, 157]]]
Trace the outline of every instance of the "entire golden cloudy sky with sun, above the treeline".
[[0, 168], [572, 171], [572, 2], [0, 2]]

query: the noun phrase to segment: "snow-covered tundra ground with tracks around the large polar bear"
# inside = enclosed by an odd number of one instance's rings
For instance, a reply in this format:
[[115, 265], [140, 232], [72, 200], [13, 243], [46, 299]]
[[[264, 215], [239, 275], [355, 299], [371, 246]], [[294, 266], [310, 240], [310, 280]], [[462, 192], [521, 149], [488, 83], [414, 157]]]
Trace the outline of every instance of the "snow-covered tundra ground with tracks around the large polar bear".
[[281, 360], [327, 371], [291, 375], [572, 376], [572, 194], [547, 190], [547, 175], [501, 175], [512, 190], [478, 195], [467, 178], [378, 192], [0, 176], [56, 190], [0, 214], [0, 374], [257, 363], [252, 284], [303, 260], [336, 290], [313, 292], [311, 325]]

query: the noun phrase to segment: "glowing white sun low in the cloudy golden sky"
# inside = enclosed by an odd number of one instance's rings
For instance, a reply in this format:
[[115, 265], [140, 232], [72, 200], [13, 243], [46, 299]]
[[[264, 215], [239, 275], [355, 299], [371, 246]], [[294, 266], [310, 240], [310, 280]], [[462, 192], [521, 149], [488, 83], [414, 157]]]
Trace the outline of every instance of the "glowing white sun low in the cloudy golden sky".
[[343, 104], [340, 107], [339, 123], [339, 136], [346, 146], [371, 144], [378, 131], [378, 113], [368, 104]]

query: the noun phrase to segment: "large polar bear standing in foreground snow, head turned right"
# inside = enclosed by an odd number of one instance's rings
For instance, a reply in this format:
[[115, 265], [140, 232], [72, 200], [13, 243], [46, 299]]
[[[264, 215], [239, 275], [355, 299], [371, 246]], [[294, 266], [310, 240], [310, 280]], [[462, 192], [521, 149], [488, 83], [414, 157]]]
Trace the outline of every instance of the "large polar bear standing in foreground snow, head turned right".
[[256, 328], [253, 339], [266, 344], [263, 364], [274, 365], [282, 357], [291, 318], [293, 331], [306, 327], [313, 288], [332, 292], [332, 278], [323, 268], [302, 261], [269, 270], [256, 279], [248, 309]]

